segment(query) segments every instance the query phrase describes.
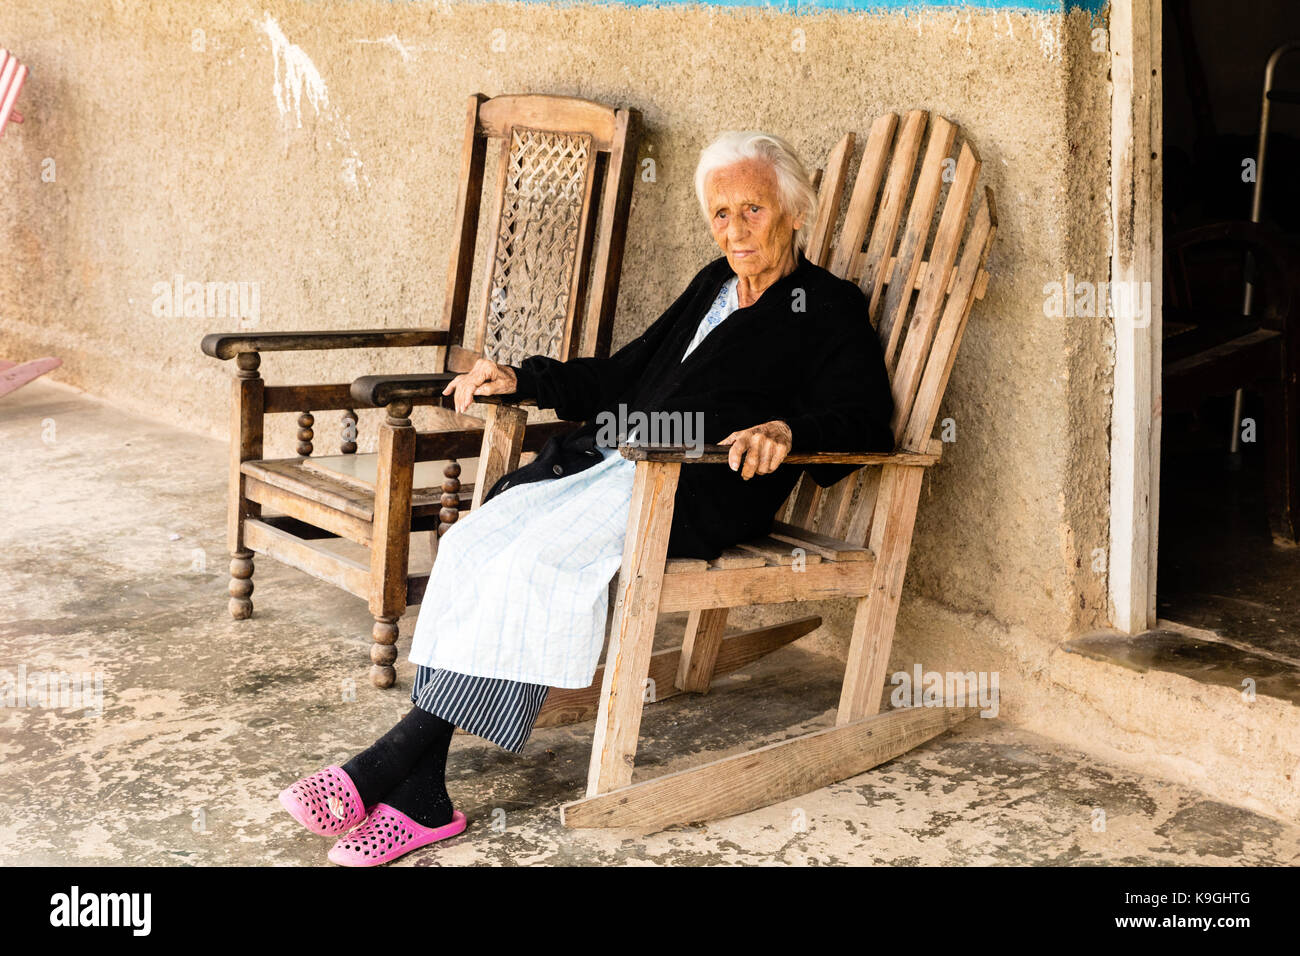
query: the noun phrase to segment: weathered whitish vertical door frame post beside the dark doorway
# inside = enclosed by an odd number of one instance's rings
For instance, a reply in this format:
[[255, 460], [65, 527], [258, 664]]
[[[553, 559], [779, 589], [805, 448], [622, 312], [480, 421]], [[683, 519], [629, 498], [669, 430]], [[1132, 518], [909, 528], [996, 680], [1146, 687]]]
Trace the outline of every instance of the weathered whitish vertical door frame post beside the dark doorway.
[[1156, 624], [1164, 242], [1161, 1], [1110, 3], [1110, 281], [1112, 290], [1123, 284], [1141, 291], [1140, 297], [1115, 299], [1130, 304], [1112, 312], [1110, 620], [1127, 633]]

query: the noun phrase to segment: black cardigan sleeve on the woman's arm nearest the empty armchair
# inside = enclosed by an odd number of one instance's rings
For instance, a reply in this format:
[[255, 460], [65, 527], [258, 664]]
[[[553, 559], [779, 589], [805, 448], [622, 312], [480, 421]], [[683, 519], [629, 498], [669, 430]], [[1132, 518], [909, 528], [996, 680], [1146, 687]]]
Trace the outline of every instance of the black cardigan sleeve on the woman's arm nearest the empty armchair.
[[668, 338], [673, 325], [706, 281], [701, 269], [685, 291], [645, 332], [607, 359], [576, 358], [558, 362], [533, 355], [515, 369], [516, 398], [533, 398], [540, 408], [554, 408], [567, 421], [589, 421], [637, 382], [651, 356]]

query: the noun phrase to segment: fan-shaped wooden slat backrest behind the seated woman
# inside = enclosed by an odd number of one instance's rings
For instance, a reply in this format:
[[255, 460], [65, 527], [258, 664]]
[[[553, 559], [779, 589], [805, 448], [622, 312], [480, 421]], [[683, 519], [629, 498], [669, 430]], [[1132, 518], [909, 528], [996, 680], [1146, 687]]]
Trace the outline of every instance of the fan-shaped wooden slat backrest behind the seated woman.
[[[866, 293], [889, 369], [898, 450], [927, 450], [971, 306], [988, 282], [984, 261], [997, 228], [993, 193], [984, 189], [971, 216], [980, 159], [970, 142], [958, 143], [958, 133], [956, 124], [941, 116], [931, 121], [920, 109], [901, 122], [894, 113], [879, 117], [835, 242], [853, 134], [831, 151], [819, 179], [807, 255]], [[862, 544], [879, 471], [859, 470], [829, 489], [805, 476], [784, 514], [794, 524]]]

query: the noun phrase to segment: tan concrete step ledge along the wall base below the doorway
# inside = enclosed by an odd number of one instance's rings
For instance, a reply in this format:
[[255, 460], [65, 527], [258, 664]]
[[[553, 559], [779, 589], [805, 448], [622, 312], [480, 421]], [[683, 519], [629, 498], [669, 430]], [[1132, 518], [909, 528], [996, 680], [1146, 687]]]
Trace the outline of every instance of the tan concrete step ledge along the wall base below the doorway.
[[[1257, 679], [1251, 698], [1235, 671], [1212, 682], [1206, 676], [1213, 669], [1193, 678], [1069, 646], [1091, 644], [1095, 652], [1096, 637], [1053, 644], [988, 615], [910, 597], [900, 613], [889, 669], [910, 671], [919, 662], [926, 670], [996, 670], [1000, 719], [1100, 761], [1283, 821], [1300, 819], [1300, 705], [1260, 691], [1277, 682]], [[1199, 635], [1204, 643], [1210, 637], [1217, 636]], [[1218, 644], [1212, 650], [1222, 652]]]

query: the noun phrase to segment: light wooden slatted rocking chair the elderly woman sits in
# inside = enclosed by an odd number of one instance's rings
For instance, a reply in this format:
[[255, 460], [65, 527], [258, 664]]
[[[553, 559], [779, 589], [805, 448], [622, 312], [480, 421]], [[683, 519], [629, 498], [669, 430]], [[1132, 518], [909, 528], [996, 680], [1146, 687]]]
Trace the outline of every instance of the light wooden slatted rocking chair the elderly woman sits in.
[[[930, 137], [913, 185], [927, 125]], [[897, 406], [893, 453], [788, 457], [790, 463], [867, 467], [827, 489], [805, 473], [768, 536], [705, 562], [666, 559], [673, 496], [680, 468], [723, 467], [727, 450], [712, 446], [690, 458], [684, 447], [621, 446], [623, 455], [637, 462], [637, 473], [604, 665], [589, 688], [552, 689], [538, 719], [545, 724], [595, 715], [586, 797], [562, 808], [567, 826], [660, 829], [733, 816], [861, 774], [975, 713], [961, 706], [878, 713], [922, 477], [940, 457], [931, 432], [971, 306], [988, 282], [984, 261], [996, 229], [988, 189], [974, 217], [968, 215], [980, 170], [971, 144], [961, 144], [956, 165], [945, 163], [957, 131], [948, 120], [931, 122], [922, 111], [901, 122], [893, 113], [876, 120], [833, 250], [852, 134], [840, 140], [819, 177], [807, 256], [829, 261], [832, 272], [867, 294]], [[499, 399], [484, 401], [493, 406], [481, 453], [486, 463], [481, 480], [488, 481], [495, 468], [514, 466], [511, 449], [524, 414]], [[489, 447], [493, 442], [506, 451]], [[796, 549], [803, 551], [800, 561]], [[724, 637], [729, 607], [835, 597], [857, 602], [835, 727], [632, 783], [647, 679], [655, 682], [656, 700], [684, 691], [703, 693], [714, 675], [758, 659], [820, 623], [816, 617], [802, 618]], [[682, 610], [689, 611], [682, 645], [651, 653], [659, 611]]]

